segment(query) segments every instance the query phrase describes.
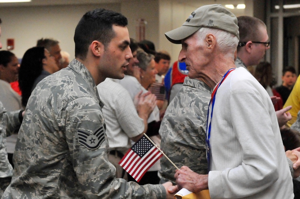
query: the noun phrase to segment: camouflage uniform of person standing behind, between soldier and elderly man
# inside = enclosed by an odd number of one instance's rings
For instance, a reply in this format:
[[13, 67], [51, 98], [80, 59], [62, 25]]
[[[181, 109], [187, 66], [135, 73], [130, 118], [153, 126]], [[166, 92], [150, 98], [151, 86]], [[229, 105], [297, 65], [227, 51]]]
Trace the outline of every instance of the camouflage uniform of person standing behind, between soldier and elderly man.
[[[197, 79], [184, 79], [183, 87], [170, 102], [161, 122], [161, 150], [178, 167], [207, 174], [205, 135], [211, 88]], [[176, 168], [163, 156], [158, 175], [161, 183], [175, 184]]]

